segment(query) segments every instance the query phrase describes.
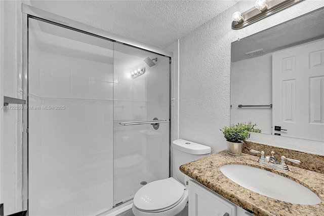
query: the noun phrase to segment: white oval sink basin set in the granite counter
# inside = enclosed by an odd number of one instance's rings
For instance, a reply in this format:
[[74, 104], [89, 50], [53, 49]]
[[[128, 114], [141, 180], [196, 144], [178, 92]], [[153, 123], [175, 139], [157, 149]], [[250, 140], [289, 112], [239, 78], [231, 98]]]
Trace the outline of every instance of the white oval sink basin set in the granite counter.
[[320, 203], [308, 188], [267, 170], [239, 164], [226, 164], [220, 170], [236, 184], [273, 199], [304, 205]]

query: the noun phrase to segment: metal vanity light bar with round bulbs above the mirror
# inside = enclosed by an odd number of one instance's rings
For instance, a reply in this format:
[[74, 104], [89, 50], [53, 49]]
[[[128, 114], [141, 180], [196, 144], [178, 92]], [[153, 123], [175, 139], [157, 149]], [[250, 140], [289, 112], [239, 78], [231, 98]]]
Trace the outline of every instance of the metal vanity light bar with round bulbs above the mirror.
[[232, 29], [244, 28], [302, 1], [304, 0], [257, 0], [255, 8], [251, 8], [242, 14], [238, 11], [233, 14]]

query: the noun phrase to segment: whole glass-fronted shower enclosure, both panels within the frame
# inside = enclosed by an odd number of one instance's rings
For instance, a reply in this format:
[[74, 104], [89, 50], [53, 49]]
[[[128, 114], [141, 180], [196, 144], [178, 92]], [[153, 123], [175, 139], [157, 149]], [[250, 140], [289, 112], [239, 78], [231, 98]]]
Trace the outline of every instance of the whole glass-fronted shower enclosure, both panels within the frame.
[[168, 56], [29, 17], [27, 116], [30, 216], [96, 215], [170, 176]]

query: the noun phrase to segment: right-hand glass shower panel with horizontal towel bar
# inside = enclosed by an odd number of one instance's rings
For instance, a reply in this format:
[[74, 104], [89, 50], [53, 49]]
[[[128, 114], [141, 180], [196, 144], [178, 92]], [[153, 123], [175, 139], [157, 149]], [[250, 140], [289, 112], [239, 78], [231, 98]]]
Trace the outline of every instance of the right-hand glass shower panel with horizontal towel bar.
[[[117, 43], [113, 56], [113, 191], [118, 205], [143, 185], [169, 177], [170, 59]], [[141, 124], [154, 118], [167, 121], [158, 129]]]

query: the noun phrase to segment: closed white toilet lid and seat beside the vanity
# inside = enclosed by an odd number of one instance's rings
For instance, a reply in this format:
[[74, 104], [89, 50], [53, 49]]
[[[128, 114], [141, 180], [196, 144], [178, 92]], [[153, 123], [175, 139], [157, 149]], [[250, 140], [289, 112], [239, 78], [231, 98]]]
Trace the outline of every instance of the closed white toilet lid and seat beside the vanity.
[[187, 189], [176, 179], [151, 182], [143, 186], [134, 196], [134, 205], [144, 212], [161, 212], [178, 205], [184, 198]]

